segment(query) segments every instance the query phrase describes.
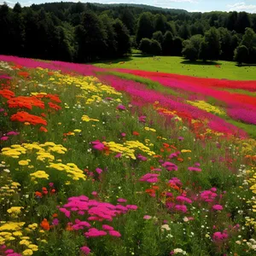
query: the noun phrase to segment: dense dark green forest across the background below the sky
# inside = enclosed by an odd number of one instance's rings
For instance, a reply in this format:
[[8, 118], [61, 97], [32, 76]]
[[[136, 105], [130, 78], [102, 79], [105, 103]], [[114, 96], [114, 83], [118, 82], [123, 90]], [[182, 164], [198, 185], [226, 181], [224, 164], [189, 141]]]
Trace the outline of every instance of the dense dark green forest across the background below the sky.
[[141, 49], [190, 61], [256, 62], [256, 14], [189, 13], [136, 4], [0, 5], [0, 54], [87, 62]]

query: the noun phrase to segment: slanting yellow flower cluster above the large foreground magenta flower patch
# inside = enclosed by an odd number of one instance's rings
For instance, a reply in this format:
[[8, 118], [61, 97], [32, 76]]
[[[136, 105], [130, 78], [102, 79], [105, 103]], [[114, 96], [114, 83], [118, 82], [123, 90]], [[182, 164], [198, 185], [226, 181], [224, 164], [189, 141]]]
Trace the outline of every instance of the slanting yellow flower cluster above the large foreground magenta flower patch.
[[62, 171], [67, 172], [68, 173], [67, 177], [72, 177], [73, 180], [79, 180], [80, 178], [83, 180], [86, 179], [84, 172], [73, 163], [68, 163], [67, 165], [62, 163], [51, 163], [49, 165], [49, 168], [54, 168], [55, 170], [58, 170], [61, 172]]

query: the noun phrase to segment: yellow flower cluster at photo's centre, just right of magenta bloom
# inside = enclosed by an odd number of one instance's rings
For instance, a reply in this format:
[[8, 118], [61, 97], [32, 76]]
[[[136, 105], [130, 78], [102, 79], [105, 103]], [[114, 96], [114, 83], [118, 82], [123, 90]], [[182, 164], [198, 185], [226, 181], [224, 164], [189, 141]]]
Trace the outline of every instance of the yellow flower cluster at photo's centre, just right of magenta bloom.
[[121, 153], [126, 158], [131, 158], [136, 160], [135, 151], [139, 149], [148, 155], [154, 155], [154, 151], [151, 151], [150, 148], [145, 146], [139, 141], [127, 141], [124, 144], [114, 143], [114, 142], [103, 142], [105, 146], [109, 148], [110, 151]]

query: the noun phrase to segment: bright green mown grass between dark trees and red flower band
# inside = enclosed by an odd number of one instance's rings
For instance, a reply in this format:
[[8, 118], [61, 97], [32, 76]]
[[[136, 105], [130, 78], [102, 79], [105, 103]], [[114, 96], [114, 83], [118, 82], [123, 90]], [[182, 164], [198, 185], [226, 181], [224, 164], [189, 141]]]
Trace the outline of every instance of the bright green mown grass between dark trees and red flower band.
[[129, 68], [145, 71], [178, 73], [189, 76], [231, 79], [231, 80], [256, 80], [256, 66], [237, 67], [232, 61], [201, 61], [190, 62], [182, 57], [158, 56], [143, 57], [133, 55], [118, 61], [105, 61], [94, 63], [97, 67], [104, 68]]

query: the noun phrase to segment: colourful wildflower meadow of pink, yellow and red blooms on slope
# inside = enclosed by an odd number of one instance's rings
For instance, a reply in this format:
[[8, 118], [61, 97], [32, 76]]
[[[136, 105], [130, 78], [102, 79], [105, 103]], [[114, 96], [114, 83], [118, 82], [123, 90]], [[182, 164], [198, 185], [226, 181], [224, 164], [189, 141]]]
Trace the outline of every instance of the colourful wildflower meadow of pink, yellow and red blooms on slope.
[[0, 55], [0, 255], [255, 255], [255, 91]]

